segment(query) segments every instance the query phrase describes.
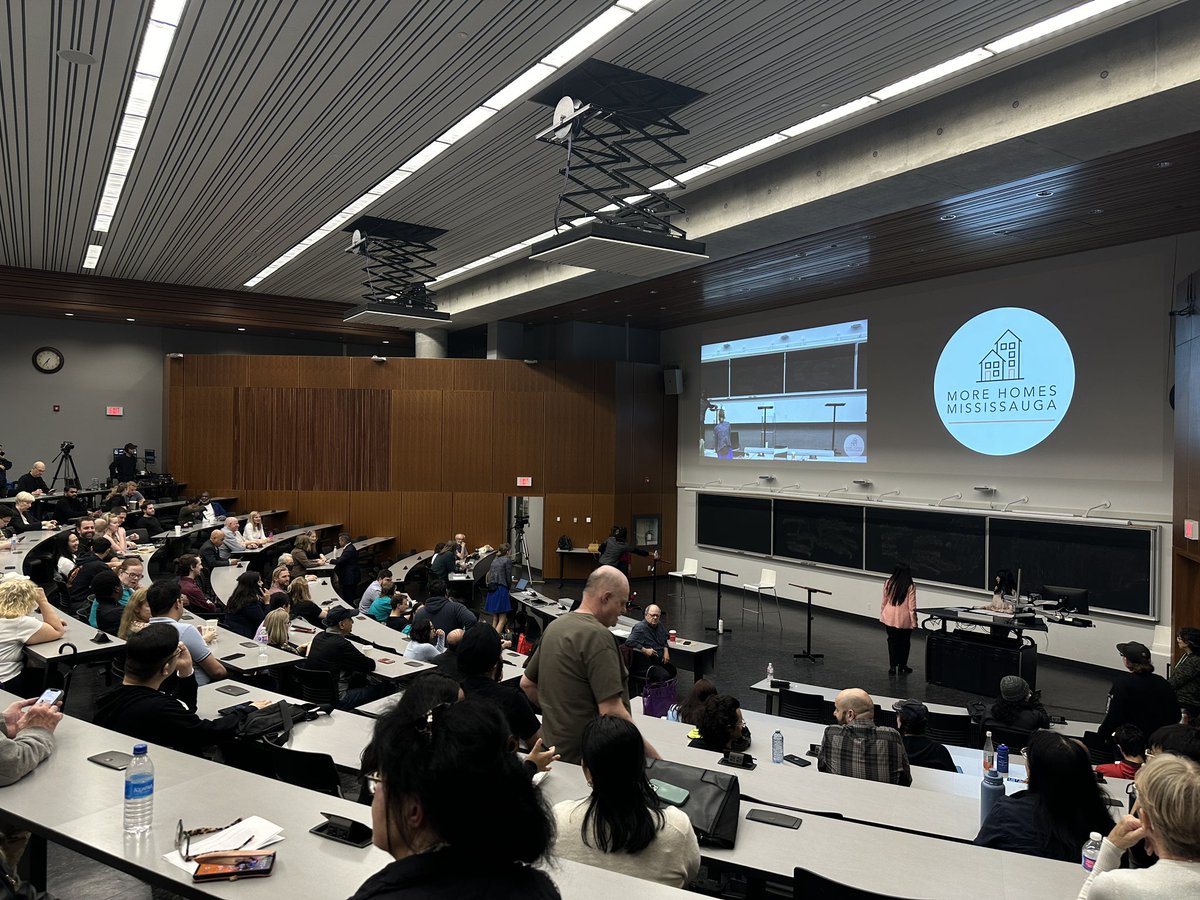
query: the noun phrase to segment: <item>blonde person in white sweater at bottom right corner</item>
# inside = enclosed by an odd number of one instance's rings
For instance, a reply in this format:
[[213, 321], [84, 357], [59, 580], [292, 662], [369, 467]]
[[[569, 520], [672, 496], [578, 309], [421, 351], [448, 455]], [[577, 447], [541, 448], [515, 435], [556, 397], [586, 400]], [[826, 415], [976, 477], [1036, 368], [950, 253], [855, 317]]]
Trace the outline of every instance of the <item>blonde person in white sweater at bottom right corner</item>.
[[[1200, 764], [1159, 754], [1138, 770], [1138, 817], [1124, 816], [1100, 845], [1079, 900], [1200, 896]], [[1121, 869], [1140, 840], [1158, 857], [1150, 869]]]

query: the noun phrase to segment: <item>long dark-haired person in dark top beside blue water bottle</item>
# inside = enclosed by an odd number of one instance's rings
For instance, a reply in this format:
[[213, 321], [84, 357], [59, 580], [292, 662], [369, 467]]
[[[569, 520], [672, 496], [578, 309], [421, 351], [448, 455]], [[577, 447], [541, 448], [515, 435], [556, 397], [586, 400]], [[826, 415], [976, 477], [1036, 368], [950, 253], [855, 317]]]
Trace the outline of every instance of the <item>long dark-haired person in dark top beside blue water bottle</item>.
[[974, 842], [1078, 862], [1088, 834], [1108, 834], [1112, 828], [1087, 750], [1056, 732], [1036, 731], [1025, 750], [1025, 766], [1028, 790], [996, 800]]

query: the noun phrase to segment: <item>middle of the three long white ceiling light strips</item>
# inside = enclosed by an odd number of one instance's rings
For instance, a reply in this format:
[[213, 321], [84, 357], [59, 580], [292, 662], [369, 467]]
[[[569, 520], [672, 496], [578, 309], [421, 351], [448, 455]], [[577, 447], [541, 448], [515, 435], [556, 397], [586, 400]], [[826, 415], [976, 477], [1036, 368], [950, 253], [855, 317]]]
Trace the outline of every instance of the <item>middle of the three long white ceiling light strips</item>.
[[[162, 0], [160, 0], [161, 2]], [[182, 2], [184, 0], [173, 0], [174, 2]], [[403, 181], [409, 175], [418, 172], [421, 167], [430, 163], [434, 157], [445, 152], [451, 148], [451, 145], [462, 140], [464, 137], [475, 131], [479, 126], [491, 119], [493, 115], [503, 110], [505, 107], [516, 102], [520, 97], [532, 91], [535, 86], [541, 84], [544, 80], [554, 74], [559, 68], [565, 66], [568, 62], [574, 60], [582, 53], [586, 53], [588, 48], [593, 47], [598, 41], [608, 35], [613, 29], [626, 22], [634, 13], [642, 10], [653, 0], [617, 0], [613, 6], [610, 6], [596, 18], [592, 19], [587, 25], [581, 28], [574, 35], [568, 37], [563, 43], [551, 50], [541, 61], [534, 64], [524, 72], [518, 74], [508, 85], [502, 88], [499, 91], [493, 94], [491, 97], [485, 100], [480, 106], [469, 112], [462, 119], [460, 119], [455, 125], [450, 126], [445, 132], [438, 136], [432, 143], [426, 148], [415, 154], [410, 160], [408, 160], [403, 166], [401, 166], [396, 172], [390, 174], [378, 185], [372, 187], [359, 199], [352, 203], [349, 206], [343, 209], [337, 216], [334, 216], [329, 222], [323, 224], [311, 235], [305, 238], [302, 241], [296, 244], [292, 250], [275, 259], [270, 265], [263, 269], [260, 272], [254, 275], [253, 278], [245, 282], [242, 287], [252, 288], [260, 283], [264, 278], [274, 275], [276, 271], [282, 269], [284, 265], [295, 259], [300, 253], [316, 244], [320, 238], [337, 230], [342, 224], [344, 224], [349, 218], [361, 212], [364, 209], [370, 206], [372, 203], [378, 200], [380, 197], [391, 191], [396, 185]], [[97, 220], [98, 221], [98, 220]], [[522, 245], [515, 245], [506, 251], [502, 251], [499, 256], [508, 256], [514, 252], [515, 248]], [[299, 247], [299, 252], [296, 252]], [[493, 254], [494, 257], [494, 254]], [[480, 265], [484, 262], [480, 260]]]

